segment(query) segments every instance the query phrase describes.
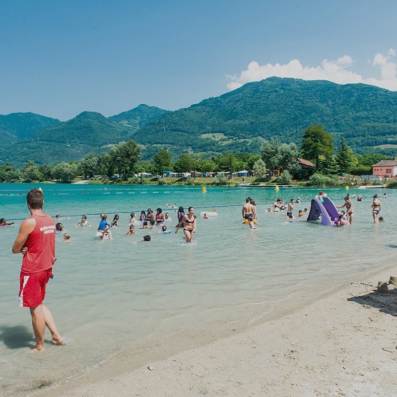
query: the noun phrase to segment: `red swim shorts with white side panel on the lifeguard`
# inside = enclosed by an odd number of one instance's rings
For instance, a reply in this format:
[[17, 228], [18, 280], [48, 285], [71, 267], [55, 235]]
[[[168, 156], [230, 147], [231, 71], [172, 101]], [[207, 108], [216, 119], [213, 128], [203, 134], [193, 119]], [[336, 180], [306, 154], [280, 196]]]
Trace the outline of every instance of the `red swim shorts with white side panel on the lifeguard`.
[[52, 267], [32, 274], [21, 272], [19, 306], [35, 307], [41, 305], [46, 296], [46, 285], [52, 275]]

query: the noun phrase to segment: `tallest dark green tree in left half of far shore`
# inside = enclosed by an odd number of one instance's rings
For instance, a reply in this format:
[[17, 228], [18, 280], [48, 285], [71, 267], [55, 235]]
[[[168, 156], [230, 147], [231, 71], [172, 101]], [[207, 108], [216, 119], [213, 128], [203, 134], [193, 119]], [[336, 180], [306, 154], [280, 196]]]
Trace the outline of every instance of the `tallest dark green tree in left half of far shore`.
[[119, 143], [110, 151], [114, 167], [124, 179], [133, 174], [133, 167], [140, 158], [140, 147], [132, 139]]

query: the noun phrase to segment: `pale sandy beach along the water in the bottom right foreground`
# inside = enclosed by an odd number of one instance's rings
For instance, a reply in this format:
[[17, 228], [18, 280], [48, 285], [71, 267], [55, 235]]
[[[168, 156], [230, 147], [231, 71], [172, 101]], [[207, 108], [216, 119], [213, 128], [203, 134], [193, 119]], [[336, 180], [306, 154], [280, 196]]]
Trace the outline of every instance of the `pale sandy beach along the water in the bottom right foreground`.
[[394, 273], [350, 280], [291, 314], [163, 360], [146, 352], [132, 371], [133, 357], [116, 356], [38, 395], [396, 396], [397, 289], [376, 292]]

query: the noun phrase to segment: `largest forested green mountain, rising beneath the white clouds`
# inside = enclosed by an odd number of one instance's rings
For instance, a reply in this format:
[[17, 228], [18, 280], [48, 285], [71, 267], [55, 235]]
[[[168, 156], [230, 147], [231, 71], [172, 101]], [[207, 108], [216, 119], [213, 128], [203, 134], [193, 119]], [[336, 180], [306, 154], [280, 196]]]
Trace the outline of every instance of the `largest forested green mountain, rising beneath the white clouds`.
[[368, 149], [397, 145], [396, 109], [397, 92], [383, 88], [270, 77], [166, 114], [134, 139], [194, 151], [236, 151], [258, 137], [299, 144], [310, 124], [322, 123], [335, 143], [344, 137], [354, 148]]

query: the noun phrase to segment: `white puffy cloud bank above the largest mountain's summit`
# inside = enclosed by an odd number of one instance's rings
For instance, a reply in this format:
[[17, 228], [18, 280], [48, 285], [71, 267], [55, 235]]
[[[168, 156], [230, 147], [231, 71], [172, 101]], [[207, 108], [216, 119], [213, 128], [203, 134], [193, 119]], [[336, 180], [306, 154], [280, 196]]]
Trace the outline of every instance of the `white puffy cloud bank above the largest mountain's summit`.
[[375, 55], [371, 65], [380, 69], [380, 79], [363, 78], [360, 74], [348, 70], [349, 67], [354, 66], [354, 61], [348, 55], [344, 55], [336, 61], [325, 59], [320, 66], [302, 66], [296, 59], [285, 65], [267, 64], [261, 66], [258, 62], [253, 61], [246, 70], [241, 72], [240, 76], [227, 75], [230, 80], [227, 87], [229, 90], [234, 90], [251, 81], [277, 76], [303, 80], [329, 80], [338, 84], [365, 83], [397, 91], [397, 64], [394, 58], [396, 58], [394, 49], [390, 49], [387, 54]]

